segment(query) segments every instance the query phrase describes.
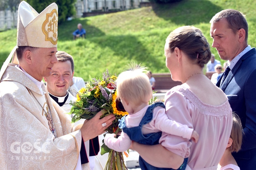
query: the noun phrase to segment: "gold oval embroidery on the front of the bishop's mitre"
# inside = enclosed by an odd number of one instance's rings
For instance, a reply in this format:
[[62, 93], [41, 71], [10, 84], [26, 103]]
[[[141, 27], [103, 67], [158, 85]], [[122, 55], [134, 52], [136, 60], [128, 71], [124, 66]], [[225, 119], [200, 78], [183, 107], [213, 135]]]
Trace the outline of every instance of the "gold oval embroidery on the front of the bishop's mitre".
[[46, 20], [43, 23], [42, 31], [45, 35], [45, 41], [51, 41], [52, 44], [57, 44], [58, 34], [58, 13], [54, 9], [50, 14], [46, 14]]

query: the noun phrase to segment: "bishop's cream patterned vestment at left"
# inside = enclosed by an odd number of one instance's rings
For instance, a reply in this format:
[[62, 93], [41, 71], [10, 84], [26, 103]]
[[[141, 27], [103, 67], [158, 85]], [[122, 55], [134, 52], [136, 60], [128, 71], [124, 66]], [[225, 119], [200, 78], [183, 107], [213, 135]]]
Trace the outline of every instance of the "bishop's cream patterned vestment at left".
[[75, 168], [81, 131], [74, 131], [69, 115], [51, 102], [44, 84], [42, 89], [14, 64], [5, 70], [0, 81], [0, 169]]

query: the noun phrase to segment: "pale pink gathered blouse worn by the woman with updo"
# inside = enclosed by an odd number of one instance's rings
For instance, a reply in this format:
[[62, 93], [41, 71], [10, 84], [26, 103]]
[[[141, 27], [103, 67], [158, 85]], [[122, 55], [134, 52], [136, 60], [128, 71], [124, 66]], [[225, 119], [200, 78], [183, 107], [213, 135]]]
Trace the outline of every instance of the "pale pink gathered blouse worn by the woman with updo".
[[[207, 95], [207, 94], [205, 94]], [[232, 128], [232, 109], [228, 100], [219, 106], [203, 103], [183, 85], [173, 87], [165, 96], [169, 119], [187, 124], [199, 133], [197, 143], [162, 133], [159, 142], [171, 152], [188, 157], [191, 169], [217, 169]]]

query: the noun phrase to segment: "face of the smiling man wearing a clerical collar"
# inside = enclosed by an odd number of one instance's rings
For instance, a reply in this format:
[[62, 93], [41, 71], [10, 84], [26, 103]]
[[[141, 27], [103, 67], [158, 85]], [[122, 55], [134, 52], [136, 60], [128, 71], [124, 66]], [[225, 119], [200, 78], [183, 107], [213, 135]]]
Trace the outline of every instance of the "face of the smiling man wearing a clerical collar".
[[47, 82], [47, 90], [54, 96], [63, 97], [67, 95], [67, 90], [72, 81], [74, 72], [71, 69], [71, 62], [59, 61], [54, 64], [52, 73], [48, 77], [44, 77]]

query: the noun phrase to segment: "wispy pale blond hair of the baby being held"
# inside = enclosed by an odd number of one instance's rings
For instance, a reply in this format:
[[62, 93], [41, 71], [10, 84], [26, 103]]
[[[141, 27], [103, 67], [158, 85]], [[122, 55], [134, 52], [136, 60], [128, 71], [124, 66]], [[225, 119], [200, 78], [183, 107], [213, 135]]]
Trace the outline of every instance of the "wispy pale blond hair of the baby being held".
[[117, 77], [117, 97], [136, 105], [148, 103], [152, 98], [152, 88], [145, 68], [124, 71]]

